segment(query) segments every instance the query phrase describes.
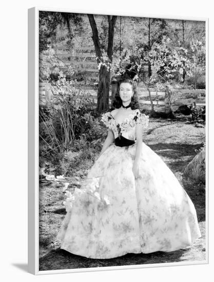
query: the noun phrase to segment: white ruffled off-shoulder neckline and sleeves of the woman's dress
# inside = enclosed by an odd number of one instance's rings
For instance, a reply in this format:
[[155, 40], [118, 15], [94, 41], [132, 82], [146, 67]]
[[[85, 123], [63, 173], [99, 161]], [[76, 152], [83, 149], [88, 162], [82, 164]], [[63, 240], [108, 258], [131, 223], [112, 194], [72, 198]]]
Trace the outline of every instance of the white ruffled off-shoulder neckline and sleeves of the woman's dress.
[[102, 114], [101, 120], [107, 128], [112, 129], [114, 133], [118, 132], [120, 135], [122, 132], [133, 131], [136, 124], [141, 124], [143, 128], [146, 128], [149, 117], [141, 113], [139, 109], [136, 109], [122, 123], [116, 122], [110, 112]]

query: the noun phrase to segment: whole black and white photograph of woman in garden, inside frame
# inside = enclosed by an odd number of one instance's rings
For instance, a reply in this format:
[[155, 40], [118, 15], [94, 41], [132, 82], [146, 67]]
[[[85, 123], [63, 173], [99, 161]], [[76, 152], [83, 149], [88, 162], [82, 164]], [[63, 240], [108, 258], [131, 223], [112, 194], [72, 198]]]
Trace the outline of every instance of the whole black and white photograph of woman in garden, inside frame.
[[38, 11], [39, 271], [207, 263], [206, 20]]

